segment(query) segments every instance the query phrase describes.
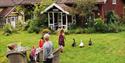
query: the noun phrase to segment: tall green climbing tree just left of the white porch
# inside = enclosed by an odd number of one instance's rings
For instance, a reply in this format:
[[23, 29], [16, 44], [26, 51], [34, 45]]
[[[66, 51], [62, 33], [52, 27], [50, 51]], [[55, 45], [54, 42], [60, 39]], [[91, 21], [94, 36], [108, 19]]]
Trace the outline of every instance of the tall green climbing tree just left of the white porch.
[[30, 20], [28, 32], [39, 33], [42, 28], [47, 26], [46, 15], [45, 14], [41, 15], [41, 12], [45, 10], [45, 8], [50, 4], [52, 4], [53, 2], [54, 2], [53, 0], [42, 0], [40, 4], [34, 5], [35, 6], [33, 11], [34, 16], [33, 16], [33, 19]]

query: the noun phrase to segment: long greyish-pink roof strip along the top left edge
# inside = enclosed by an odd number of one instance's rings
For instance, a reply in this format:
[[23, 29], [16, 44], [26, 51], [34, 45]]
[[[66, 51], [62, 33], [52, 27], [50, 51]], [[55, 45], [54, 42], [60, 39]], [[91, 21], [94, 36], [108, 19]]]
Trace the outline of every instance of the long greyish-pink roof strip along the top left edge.
[[0, 7], [14, 6], [15, 4], [35, 4], [42, 0], [0, 0]]

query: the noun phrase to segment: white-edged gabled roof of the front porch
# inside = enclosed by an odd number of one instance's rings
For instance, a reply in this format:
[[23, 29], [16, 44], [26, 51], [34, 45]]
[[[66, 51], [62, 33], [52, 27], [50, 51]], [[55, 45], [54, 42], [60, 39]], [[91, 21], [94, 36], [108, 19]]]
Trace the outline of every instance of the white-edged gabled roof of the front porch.
[[52, 5], [50, 5], [49, 7], [47, 7], [44, 11], [42, 11], [41, 13], [45, 13], [47, 12], [49, 9], [51, 9], [52, 7], [56, 7], [59, 10], [61, 10], [62, 12], [66, 13], [66, 14], [70, 14], [71, 12], [74, 11], [74, 9], [72, 7], [69, 7], [65, 4], [57, 4], [57, 3], [53, 3]]

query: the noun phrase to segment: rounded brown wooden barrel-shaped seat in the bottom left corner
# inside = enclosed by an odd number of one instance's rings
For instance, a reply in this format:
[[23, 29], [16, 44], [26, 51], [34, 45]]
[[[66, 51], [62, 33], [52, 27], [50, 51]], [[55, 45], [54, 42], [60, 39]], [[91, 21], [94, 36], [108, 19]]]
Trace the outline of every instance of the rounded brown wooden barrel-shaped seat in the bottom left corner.
[[28, 63], [27, 58], [20, 52], [11, 52], [7, 54], [9, 63]]

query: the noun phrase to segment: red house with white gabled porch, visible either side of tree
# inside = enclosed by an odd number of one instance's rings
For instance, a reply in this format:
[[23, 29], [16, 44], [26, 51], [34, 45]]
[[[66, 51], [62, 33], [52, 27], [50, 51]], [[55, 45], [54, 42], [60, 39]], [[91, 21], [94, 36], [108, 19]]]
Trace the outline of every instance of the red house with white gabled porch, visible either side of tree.
[[[47, 7], [42, 13], [48, 15], [48, 27], [57, 30], [59, 27], [68, 28], [78, 22], [73, 5], [76, 0], [57, 0], [55, 3]], [[124, 5], [122, 0], [97, 0], [95, 5], [95, 15], [105, 18], [108, 11], [115, 11], [120, 17], [124, 14]], [[77, 12], [77, 11], [76, 11]]]

